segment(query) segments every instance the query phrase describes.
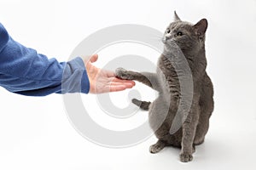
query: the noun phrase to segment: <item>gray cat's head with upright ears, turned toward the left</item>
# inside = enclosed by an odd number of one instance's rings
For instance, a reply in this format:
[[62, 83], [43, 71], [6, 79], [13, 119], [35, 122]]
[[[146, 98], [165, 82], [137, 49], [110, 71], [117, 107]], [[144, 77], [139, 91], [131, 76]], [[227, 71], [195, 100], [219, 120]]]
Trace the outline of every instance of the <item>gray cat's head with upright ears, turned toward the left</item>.
[[172, 50], [173, 44], [184, 52], [198, 52], [205, 47], [205, 34], [207, 31], [207, 20], [202, 19], [195, 25], [180, 20], [174, 12], [174, 21], [167, 26], [162, 42], [165, 50]]

